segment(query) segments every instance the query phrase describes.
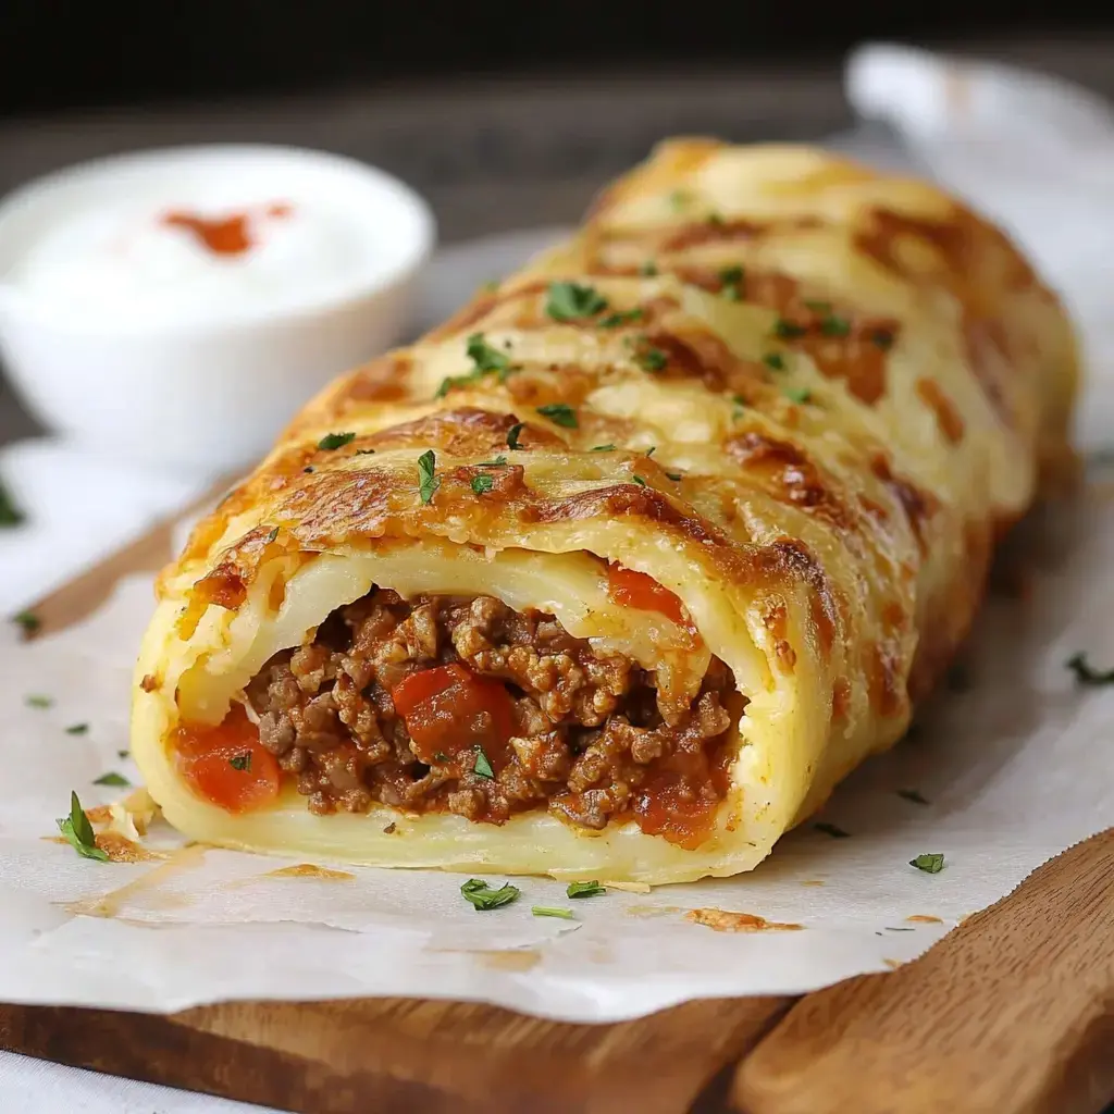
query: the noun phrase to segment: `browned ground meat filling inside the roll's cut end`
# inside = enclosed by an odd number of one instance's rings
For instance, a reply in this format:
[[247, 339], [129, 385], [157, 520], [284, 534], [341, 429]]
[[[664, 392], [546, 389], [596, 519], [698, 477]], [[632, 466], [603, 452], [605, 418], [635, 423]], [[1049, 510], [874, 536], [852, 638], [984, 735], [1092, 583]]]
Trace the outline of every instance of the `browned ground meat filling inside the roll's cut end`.
[[405, 602], [373, 588], [247, 688], [260, 742], [310, 810], [373, 801], [501, 823], [548, 808], [602, 829], [694, 844], [726, 791], [726, 734], [744, 703], [713, 658], [686, 713], [657, 705], [654, 674], [597, 655], [551, 615], [491, 596]]

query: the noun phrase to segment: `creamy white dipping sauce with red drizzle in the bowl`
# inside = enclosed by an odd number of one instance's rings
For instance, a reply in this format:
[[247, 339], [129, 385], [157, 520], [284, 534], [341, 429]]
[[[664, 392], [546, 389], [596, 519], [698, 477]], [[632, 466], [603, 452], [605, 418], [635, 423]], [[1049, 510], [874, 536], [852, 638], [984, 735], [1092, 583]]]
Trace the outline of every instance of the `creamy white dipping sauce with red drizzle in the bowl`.
[[74, 325], [144, 328], [296, 312], [393, 265], [342, 178], [267, 164], [172, 154], [70, 180], [4, 281]]

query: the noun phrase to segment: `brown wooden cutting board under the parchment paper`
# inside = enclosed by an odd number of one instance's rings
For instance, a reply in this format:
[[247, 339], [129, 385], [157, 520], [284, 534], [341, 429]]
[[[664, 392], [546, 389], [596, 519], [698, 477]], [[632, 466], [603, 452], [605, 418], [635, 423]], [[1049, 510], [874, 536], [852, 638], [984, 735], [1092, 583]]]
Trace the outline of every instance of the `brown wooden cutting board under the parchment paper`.
[[[170, 531], [43, 600], [42, 631], [159, 567]], [[1114, 1101], [1114, 829], [920, 959], [802, 998], [617, 1025], [402, 998], [165, 1017], [0, 1005], [0, 1047], [305, 1114], [1097, 1114]]]

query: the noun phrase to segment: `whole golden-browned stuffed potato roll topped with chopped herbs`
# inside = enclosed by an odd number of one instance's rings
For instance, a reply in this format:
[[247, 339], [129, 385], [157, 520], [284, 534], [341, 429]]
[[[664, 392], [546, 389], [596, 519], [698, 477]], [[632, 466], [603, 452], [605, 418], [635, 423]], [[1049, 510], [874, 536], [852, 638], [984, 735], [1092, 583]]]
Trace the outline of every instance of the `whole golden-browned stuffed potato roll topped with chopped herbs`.
[[905, 732], [1075, 384], [1056, 296], [934, 186], [664, 143], [195, 528], [133, 752], [215, 844], [750, 870]]

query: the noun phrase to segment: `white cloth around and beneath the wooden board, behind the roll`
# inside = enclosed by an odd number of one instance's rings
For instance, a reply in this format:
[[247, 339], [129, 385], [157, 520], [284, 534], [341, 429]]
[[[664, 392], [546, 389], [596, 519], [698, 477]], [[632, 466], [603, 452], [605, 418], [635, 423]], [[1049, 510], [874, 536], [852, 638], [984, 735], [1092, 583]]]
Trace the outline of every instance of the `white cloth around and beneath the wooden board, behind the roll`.
[[[1114, 248], [1111, 106], [1038, 75], [889, 46], [851, 57], [848, 94], [864, 126], [833, 146], [931, 174], [999, 219], [1066, 295], [1095, 375], [1104, 368], [1114, 375], [1114, 315], [1103, 305]], [[438, 320], [476, 284], [554, 236], [543, 229], [441, 253], [420, 324]], [[1107, 439], [1114, 391], [1091, 398], [1097, 401], [1082, 414], [1081, 440], [1095, 447]], [[52, 439], [9, 447], [0, 453], [0, 475], [31, 510], [26, 527], [0, 535], [0, 612], [72, 577], [204, 487], [196, 477], [133, 475]], [[246, 1114], [261, 1107], [0, 1054], [0, 1110]]]

